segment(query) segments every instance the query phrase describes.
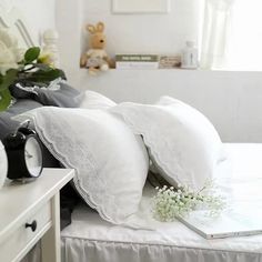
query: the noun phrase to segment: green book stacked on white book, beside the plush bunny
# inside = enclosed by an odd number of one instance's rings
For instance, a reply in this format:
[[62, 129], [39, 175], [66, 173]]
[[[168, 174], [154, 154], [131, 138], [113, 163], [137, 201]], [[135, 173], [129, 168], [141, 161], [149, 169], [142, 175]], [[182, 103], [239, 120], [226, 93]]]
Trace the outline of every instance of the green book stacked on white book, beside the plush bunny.
[[158, 69], [159, 56], [157, 54], [117, 54], [117, 69]]

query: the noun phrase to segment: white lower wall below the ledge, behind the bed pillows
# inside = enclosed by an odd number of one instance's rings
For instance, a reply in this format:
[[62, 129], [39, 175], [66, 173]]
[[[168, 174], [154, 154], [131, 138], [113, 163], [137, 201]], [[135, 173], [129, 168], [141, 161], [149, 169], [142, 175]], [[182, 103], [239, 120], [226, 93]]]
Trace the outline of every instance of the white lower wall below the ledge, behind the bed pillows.
[[117, 102], [155, 102], [171, 95], [203, 112], [225, 142], [262, 142], [262, 72], [201, 70], [81, 71], [79, 88]]

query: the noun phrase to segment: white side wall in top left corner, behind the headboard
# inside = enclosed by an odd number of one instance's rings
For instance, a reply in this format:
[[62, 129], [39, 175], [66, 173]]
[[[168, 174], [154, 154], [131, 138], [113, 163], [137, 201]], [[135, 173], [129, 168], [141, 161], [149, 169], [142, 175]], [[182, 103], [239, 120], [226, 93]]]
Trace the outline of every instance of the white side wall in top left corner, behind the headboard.
[[37, 44], [46, 29], [56, 28], [56, 0], [0, 0], [0, 6], [6, 10], [12, 7], [21, 10]]

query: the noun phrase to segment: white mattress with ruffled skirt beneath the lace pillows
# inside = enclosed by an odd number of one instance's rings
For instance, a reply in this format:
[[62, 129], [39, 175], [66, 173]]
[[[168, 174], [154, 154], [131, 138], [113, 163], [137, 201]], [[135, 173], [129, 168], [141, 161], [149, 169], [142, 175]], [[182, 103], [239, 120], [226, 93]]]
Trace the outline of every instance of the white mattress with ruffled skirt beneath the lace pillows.
[[[232, 177], [219, 178], [219, 183], [233, 198], [251, 201], [262, 211], [262, 144], [225, 147]], [[148, 210], [150, 193], [144, 191], [141, 212]], [[62, 262], [262, 262], [262, 235], [205, 240], [181, 222], [133, 230], [103, 221], [85, 205], [74, 210], [72, 220], [61, 233]]]

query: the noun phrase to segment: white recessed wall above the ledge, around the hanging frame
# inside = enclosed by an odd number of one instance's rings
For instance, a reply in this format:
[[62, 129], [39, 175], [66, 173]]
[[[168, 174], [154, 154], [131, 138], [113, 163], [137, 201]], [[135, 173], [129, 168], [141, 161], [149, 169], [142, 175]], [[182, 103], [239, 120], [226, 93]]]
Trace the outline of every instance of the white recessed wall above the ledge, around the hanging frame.
[[[112, 14], [111, 0], [84, 0], [82, 23], [103, 21], [108, 52], [179, 53], [198, 41], [200, 0], [170, 0], [168, 14]], [[87, 46], [87, 44], [85, 44]]]

